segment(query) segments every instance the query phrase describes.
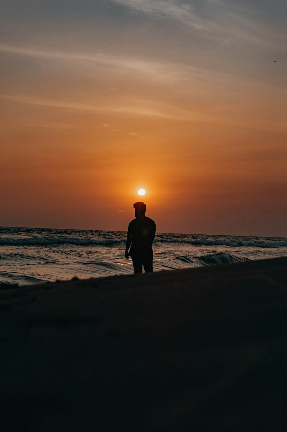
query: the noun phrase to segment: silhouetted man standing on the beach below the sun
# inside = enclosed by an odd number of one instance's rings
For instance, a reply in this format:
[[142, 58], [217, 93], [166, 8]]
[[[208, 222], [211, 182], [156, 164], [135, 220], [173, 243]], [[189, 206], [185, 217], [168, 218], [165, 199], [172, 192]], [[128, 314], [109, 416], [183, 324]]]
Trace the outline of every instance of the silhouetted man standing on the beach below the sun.
[[142, 273], [142, 266], [145, 273], [152, 272], [151, 245], [155, 239], [155, 222], [145, 216], [145, 203], [138, 201], [133, 207], [136, 219], [129, 222], [125, 257], [132, 257], [134, 273]]

